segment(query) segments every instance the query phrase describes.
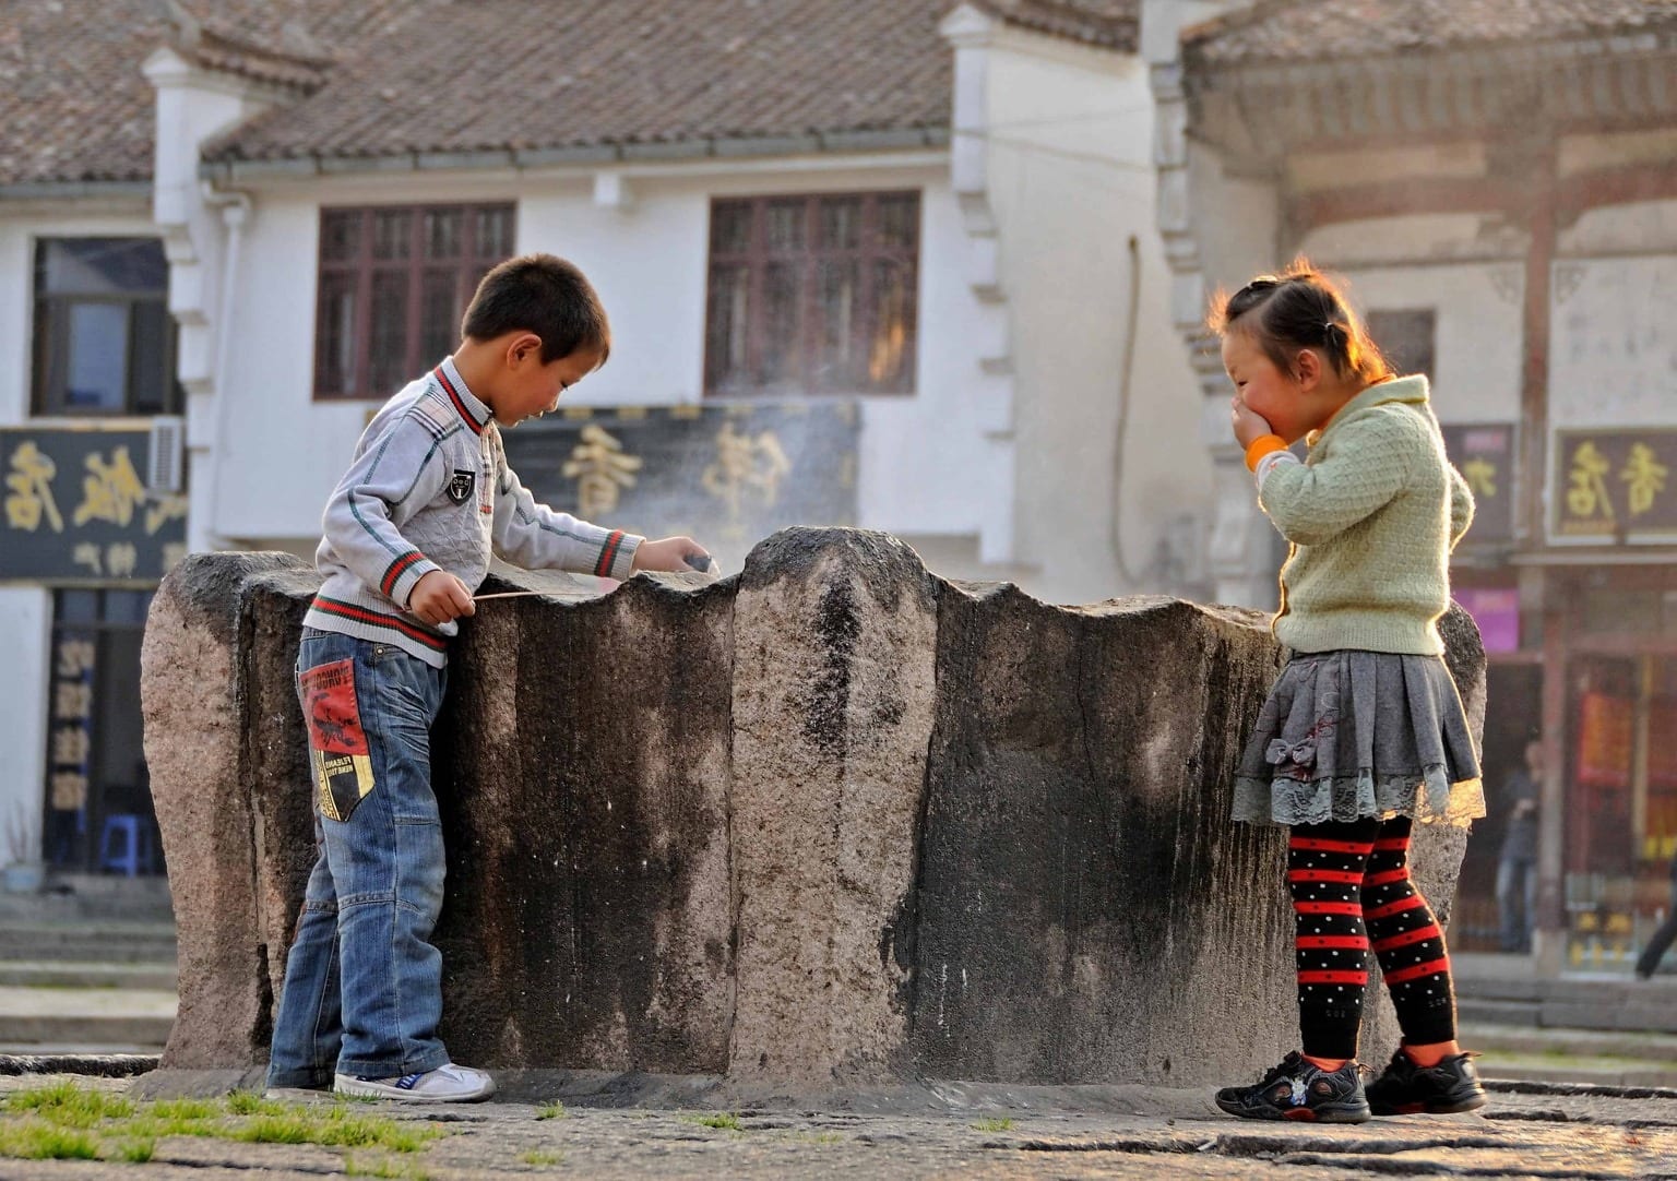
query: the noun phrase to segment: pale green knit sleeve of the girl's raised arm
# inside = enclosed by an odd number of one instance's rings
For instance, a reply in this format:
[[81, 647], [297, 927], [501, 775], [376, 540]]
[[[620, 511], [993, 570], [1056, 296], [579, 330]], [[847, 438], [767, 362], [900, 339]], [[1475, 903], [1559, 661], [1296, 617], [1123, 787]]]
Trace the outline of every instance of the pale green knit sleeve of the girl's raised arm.
[[1313, 463], [1269, 471], [1258, 503], [1286, 540], [1321, 545], [1402, 492], [1420, 429], [1395, 414], [1347, 421], [1332, 440], [1318, 443], [1325, 450]]

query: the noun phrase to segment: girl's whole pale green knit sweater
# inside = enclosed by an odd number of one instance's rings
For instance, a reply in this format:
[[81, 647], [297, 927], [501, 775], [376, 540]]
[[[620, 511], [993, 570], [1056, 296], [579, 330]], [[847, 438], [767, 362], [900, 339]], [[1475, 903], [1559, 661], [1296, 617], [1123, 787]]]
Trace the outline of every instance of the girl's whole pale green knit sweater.
[[1370, 386], [1310, 436], [1303, 463], [1259, 475], [1258, 503], [1291, 542], [1276, 639], [1298, 653], [1444, 653], [1437, 621], [1472, 493], [1444, 458], [1425, 377]]

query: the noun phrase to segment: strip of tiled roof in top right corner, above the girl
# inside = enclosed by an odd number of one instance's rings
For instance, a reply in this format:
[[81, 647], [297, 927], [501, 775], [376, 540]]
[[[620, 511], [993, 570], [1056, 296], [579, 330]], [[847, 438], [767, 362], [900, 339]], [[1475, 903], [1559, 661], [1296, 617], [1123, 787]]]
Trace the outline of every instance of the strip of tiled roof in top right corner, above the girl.
[[1677, 0], [1259, 0], [1182, 32], [1191, 67], [1365, 59], [1677, 27]]

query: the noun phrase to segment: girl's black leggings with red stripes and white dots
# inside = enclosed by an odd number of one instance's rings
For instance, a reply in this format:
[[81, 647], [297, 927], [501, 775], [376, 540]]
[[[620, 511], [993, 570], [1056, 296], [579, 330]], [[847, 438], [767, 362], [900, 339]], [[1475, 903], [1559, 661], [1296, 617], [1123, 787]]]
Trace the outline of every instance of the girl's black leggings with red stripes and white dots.
[[1444, 931], [1409, 877], [1410, 824], [1400, 815], [1293, 829], [1286, 887], [1298, 951], [1298, 1027], [1311, 1057], [1357, 1057], [1370, 941], [1404, 1040], [1456, 1038]]

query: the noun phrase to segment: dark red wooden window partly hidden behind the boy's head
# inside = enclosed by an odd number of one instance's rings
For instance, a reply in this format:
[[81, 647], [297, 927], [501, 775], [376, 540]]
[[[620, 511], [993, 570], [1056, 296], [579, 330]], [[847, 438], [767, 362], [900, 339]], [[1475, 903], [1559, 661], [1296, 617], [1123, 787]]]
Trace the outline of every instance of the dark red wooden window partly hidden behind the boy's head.
[[315, 398], [389, 398], [459, 342], [511, 205], [320, 210]]

